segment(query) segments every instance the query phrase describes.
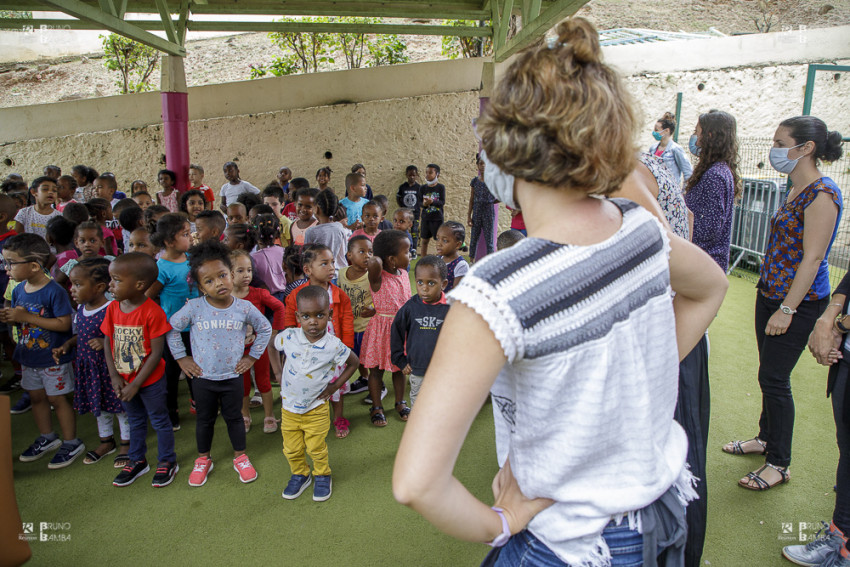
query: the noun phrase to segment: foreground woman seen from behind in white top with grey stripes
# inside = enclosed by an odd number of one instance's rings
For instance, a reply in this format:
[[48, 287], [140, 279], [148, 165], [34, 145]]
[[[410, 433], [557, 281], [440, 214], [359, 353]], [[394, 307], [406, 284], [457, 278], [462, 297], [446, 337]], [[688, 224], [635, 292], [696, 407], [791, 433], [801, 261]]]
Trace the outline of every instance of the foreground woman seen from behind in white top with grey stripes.
[[[673, 420], [678, 361], [728, 282], [648, 211], [608, 198], [634, 167], [637, 119], [601, 58], [587, 20], [561, 22], [478, 120], [487, 187], [522, 209], [528, 238], [449, 294], [396, 456], [396, 499], [498, 548], [487, 565], [655, 565], [684, 551], [695, 493]], [[452, 476], [488, 392], [493, 508]]]

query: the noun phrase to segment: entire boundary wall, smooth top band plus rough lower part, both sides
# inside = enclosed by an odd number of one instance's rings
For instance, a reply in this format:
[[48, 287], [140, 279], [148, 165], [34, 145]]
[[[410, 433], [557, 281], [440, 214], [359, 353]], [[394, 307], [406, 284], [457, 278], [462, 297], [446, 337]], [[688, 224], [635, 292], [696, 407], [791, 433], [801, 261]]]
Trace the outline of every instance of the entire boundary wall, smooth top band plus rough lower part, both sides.
[[[806, 63], [850, 62], [846, 41], [835, 40], [830, 30], [816, 33], [828, 41], [813, 45], [804, 32], [799, 37], [805, 42], [792, 44], [780, 33], [705, 45], [607, 48], [605, 54], [627, 75], [643, 112], [642, 147], [652, 140], [654, 121], [675, 108], [679, 91], [684, 94], [684, 140], [699, 113], [709, 108], [732, 112], [741, 136], [770, 136], [779, 121], [802, 110]], [[758, 47], [765, 42], [774, 48]], [[725, 53], [722, 60], [711, 55], [715, 48]], [[787, 63], [795, 52], [809, 59]], [[690, 68], [677, 70], [687, 61]], [[207, 182], [215, 189], [224, 183], [220, 168], [228, 160], [237, 161], [243, 177], [258, 186], [281, 165], [311, 180], [316, 169], [329, 165], [340, 195], [345, 173], [362, 162], [376, 193], [389, 196], [403, 181], [406, 165], [423, 168], [436, 162], [449, 190], [447, 217], [465, 220], [477, 150], [470, 121], [478, 115], [479, 96], [487, 93], [479, 90], [482, 77], [489, 86], [489, 75], [499, 70], [483, 61], [461, 60], [192, 88], [191, 158], [207, 168]], [[845, 135], [850, 135], [848, 81], [845, 74], [819, 74], [813, 106], [814, 114]], [[0, 140], [5, 141], [0, 176], [17, 171], [31, 179], [46, 163], [65, 170], [86, 163], [116, 172], [123, 188], [136, 178], [152, 185], [163, 167], [159, 112], [158, 93], [0, 109]], [[330, 160], [324, 158], [328, 151]], [[506, 226], [507, 215], [500, 222]]]

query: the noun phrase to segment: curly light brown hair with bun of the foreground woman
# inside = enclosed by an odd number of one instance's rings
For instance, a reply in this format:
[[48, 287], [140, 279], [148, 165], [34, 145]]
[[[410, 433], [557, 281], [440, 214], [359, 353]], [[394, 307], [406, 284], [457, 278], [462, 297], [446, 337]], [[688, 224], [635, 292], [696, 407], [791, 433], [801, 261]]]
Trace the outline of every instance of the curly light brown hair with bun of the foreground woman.
[[559, 23], [517, 57], [477, 123], [487, 157], [549, 187], [608, 195], [635, 163], [637, 117], [584, 18]]

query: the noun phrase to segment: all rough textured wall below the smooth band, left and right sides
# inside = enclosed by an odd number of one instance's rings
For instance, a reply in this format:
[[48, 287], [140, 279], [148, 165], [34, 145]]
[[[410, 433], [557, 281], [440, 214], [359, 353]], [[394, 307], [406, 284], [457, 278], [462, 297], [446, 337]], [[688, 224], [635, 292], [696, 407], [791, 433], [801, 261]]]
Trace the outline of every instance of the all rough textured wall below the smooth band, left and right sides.
[[[684, 94], [683, 145], [699, 113], [710, 108], [734, 114], [740, 136], [772, 136], [783, 118], [800, 114], [806, 68], [783, 65], [627, 77], [643, 113], [637, 142], [649, 146], [655, 120], [675, 109], [679, 91]], [[848, 90], [850, 74], [821, 72], [812, 108], [845, 136], [850, 135]], [[281, 165], [311, 182], [318, 168], [329, 165], [334, 170], [331, 186], [340, 197], [351, 165], [364, 163], [368, 183], [376, 194], [390, 197], [391, 210], [405, 167], [416, 164], [424, 175], [425, 164], [438, 163], [448, 189], [446, 218], [465, 221], [469, 181], [476, 173], [477, 143], [470, 122], [478, 115], [478, 95], [468, 91], [194, 121], [189, 126], [191, 158], [206, 168], [206, 181], [216, 191], [225, 181], [221, 165], [228, 160], [237, 161], [242, 177], [260, 188]], [[0, 157], [12, 165], [0, 161], [0, 175], [17, 171], [32, 179], [47, 163], [58, 163], [64, 171], [85, 163], [115, 172], [122, 188], [144, 179], [153, 189], [156, 171], [164, 167], [163, 151], [159, 126], [29, 140], [3, 147]], [[767, 151], [766, 146], [765, 157]], [[326, 159], [325, 152], [333, 157]], [[502, 208], [500, 229], [509, 223]]]

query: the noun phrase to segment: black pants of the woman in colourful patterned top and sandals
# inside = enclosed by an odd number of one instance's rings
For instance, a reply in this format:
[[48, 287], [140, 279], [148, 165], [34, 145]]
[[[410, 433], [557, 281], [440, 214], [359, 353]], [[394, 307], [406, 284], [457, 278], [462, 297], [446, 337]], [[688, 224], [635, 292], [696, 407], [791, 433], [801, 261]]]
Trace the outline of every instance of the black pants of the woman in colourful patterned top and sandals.
[[794, 436], [791, 371], [806, 348], [809, 334], [826, 309], [829, 298], [801, 302], [784, 334], [766, 335], [764, 328], [767, 321], [781, 303], [761, 293], [756, 297], [756, 344], [762, 399], [758, 436], [767, 443], [767, 462], [787, 467], [791, 464], [791, 440]]

